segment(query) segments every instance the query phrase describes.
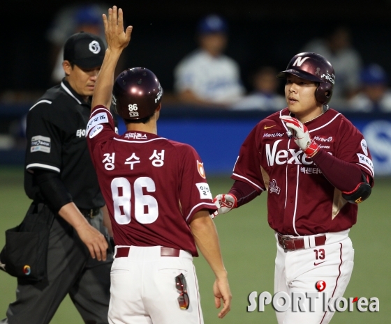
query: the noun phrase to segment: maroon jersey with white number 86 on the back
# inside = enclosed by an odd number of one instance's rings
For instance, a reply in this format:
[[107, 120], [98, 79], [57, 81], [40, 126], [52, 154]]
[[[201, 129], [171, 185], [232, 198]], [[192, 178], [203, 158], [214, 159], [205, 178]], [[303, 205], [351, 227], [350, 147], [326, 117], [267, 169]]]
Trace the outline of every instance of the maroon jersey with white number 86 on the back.
[[108, 206], [116, 245], [162, 245], [198, 256], [189, 222], [216, 210], [194, 148], [147, 132], [119, 136], [110, 111], [97, 106], [87, 141]]

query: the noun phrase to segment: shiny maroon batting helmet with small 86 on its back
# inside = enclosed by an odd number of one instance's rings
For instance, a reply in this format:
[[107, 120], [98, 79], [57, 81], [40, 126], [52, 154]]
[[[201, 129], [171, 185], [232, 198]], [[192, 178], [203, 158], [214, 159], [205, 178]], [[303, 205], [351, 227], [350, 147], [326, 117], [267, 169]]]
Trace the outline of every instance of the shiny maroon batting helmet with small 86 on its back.
[[124, 119], [138, 120], [152, 116], [163, 97], [156, 75], [147, 68], [124, 70], [115, 79], [112, 103]]

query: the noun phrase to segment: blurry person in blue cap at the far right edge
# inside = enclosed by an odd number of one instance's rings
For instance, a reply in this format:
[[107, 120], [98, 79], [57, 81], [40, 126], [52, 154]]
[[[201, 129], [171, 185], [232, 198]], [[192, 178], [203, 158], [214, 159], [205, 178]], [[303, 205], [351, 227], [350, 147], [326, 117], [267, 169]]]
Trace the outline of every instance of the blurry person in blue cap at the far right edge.
[[391, 112], [388, 76], [378, 64], [369, 64], [360, 73], [361, 91], [349, 100], [351, 111]]

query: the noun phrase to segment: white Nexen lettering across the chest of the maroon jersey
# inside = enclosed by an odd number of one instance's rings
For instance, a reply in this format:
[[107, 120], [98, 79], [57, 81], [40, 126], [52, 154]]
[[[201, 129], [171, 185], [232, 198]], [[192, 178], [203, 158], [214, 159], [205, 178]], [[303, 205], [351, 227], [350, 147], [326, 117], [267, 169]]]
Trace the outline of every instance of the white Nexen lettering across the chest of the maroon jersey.
[[[277, 146], [282, 139], [279, 139], [274, 142], [272, 148], [270, 144], [265, 145], [267, 165], [272, 167], [274, 163], [276, 164], [312, 164], [311, 160], [307, 160], [307, 155], [303, 153], [302, 150], [296, 151], [293, 148], [288, 150], [277, 151]], [[303, 153], [303, 154], [302, 154]], [[289, 157], [290, 155], [290, 157]], [[289, 157], [288, 160], [286, 160]]]

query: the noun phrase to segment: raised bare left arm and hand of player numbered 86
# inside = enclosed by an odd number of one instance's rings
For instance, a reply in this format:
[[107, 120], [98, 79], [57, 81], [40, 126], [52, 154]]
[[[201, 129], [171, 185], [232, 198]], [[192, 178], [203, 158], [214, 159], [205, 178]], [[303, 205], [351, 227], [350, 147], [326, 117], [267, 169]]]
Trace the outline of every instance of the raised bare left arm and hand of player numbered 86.
[[108, 49], [106, 49], [105, 58], [96, 79], [91, 109], [98, 105], [110, 107], [115, 67], [121, 52], [131, 40], [133, 29], [132, 26], [128, 26], [124, 30], [124, 15], [121, 8], [117, 10], [117, 6], [108, 10], [108, 17], [103, 14], [103, 24]]

